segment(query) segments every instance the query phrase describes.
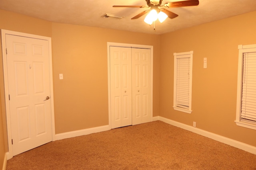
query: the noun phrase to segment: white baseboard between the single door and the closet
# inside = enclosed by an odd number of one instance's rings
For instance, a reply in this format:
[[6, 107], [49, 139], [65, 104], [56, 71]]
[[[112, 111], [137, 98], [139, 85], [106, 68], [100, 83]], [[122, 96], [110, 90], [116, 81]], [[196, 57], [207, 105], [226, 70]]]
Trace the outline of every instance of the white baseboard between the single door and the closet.
[[66, 132], [66, 133], [59, 133], [55, 135], [55, 140], [60, 140], [60, 139], [66, 139], [70, 137], [78, 137], [82, 135], [89, 135], [91, 133], [97, 133], [97, 132], [103, 132], [103, 131], [108, 131], [110, 130], [110, 126], [100, 126], [100, 127], [93, 127], [89, 129], [82, 129], [78, 131], [71, 131], [71, 132]]

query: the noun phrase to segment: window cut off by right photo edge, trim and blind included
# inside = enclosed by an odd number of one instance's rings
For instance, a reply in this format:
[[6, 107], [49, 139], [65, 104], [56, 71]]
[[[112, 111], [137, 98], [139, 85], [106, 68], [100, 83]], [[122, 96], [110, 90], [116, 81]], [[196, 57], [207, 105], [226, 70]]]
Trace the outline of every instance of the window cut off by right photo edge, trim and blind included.
[[256, 44], [238, 45], [236, 125], [256, 129]]

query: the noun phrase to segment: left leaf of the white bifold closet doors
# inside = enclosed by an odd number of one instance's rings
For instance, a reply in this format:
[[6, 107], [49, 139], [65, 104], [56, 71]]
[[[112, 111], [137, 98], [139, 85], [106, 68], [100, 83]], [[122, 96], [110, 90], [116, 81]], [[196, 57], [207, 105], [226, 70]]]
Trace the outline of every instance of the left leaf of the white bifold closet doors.
[[111, 127], [132, 125], [131, 49], [110, 47]]

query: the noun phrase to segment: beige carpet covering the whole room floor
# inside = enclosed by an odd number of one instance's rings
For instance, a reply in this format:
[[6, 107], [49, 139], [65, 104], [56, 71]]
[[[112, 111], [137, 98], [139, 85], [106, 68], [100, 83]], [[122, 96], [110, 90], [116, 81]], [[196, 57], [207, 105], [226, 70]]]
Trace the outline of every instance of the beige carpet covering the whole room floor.
[[256, 170], [256, 155], [154, 121], [50, 142], [6, 170]]

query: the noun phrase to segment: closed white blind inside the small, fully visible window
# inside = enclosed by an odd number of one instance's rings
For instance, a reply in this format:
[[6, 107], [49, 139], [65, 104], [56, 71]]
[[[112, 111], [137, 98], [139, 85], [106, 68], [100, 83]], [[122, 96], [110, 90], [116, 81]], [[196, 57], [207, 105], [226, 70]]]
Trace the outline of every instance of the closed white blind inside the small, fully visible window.
[[176, 106], [189, 108], [190, 57], [177, 59]]

